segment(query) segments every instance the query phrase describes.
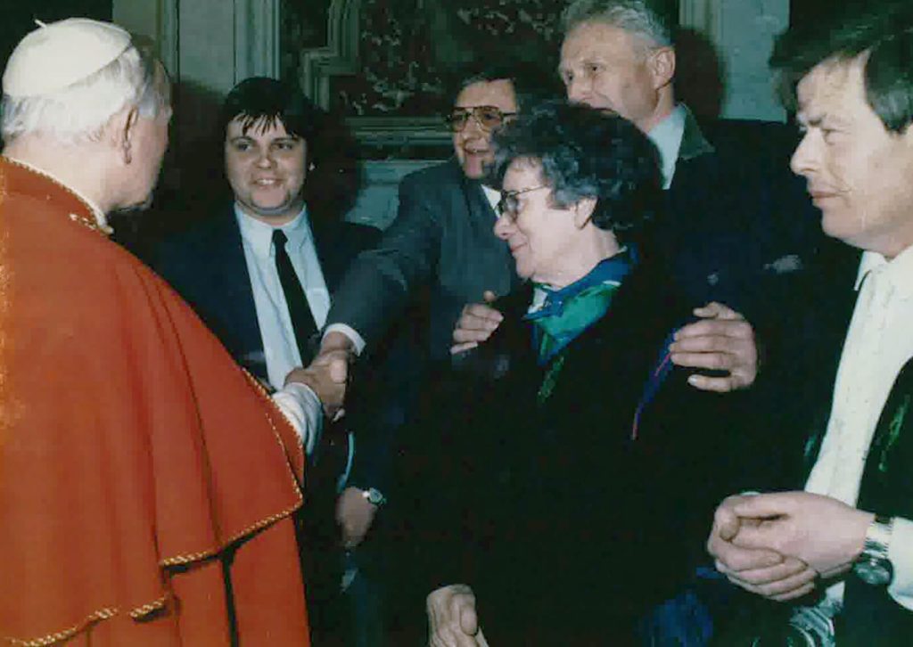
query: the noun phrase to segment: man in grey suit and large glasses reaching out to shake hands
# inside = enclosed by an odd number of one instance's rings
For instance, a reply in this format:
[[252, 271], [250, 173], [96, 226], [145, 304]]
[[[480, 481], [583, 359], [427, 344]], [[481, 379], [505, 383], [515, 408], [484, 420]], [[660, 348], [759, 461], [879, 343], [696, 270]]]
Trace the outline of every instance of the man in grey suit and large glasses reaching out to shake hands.
[[[500, 194], [482, 177], [492, 158], [492, 130], [528, 100], [528, 77], [541, 85], [541, 75], [537, 78], [518, 65], [480, 67], [462, 78], [446, 116], [454, 157], [404, 178], [394, 224], [379, 245], [352, 262], [334, 296], [321, 347], [324, 356], [371, 350], [416, 296], [424, 294], [428, 325], [417, 331], [424, 343], [415, 349], [419, 357], [412, 358], [409, 363], [414, 365], [408, 369], [415, 375], [420, 370], [415, 364], [421, 365], [423, 356], [446, 357], [466, 303], [480, 300], [486, 290], [509, 293], [518, 280], [513, 259], [492, 234]], [[408, 381], [402, 375], [397, 379]], [[385, 462], [378, 456], [386, 452], [371, 442], [359, 439], [350, 486], [338, 506], [343, 541], [350, 546], [361, 541], [383, 501]]]

